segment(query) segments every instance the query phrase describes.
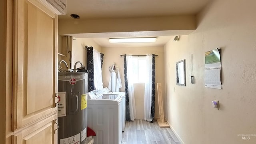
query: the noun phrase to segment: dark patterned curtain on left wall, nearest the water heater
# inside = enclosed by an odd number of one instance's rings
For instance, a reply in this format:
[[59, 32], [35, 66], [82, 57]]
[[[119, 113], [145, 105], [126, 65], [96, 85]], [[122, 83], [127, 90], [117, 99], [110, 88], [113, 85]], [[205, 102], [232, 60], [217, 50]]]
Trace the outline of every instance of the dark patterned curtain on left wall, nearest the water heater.
[[93, 74], [93, 47], [87, 47], [88, 92], [95, 89]]

